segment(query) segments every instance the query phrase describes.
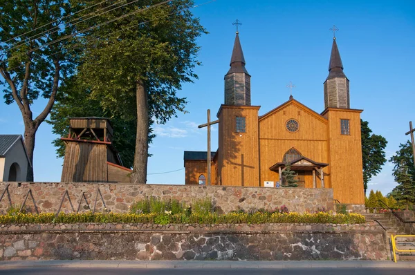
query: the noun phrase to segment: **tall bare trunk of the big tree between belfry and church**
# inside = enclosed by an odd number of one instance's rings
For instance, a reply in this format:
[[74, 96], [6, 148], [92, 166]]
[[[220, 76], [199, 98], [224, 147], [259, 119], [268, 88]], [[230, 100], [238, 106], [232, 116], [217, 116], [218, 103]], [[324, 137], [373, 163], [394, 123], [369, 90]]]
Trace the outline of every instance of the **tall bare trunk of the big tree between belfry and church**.
[[147, 87], [142, 80], [137, 82], [137, 138], [136, 153], [134, 154], [132, 183], [147, 182], [147, 158], [149, 151], [149, 104], [147, 101]]

